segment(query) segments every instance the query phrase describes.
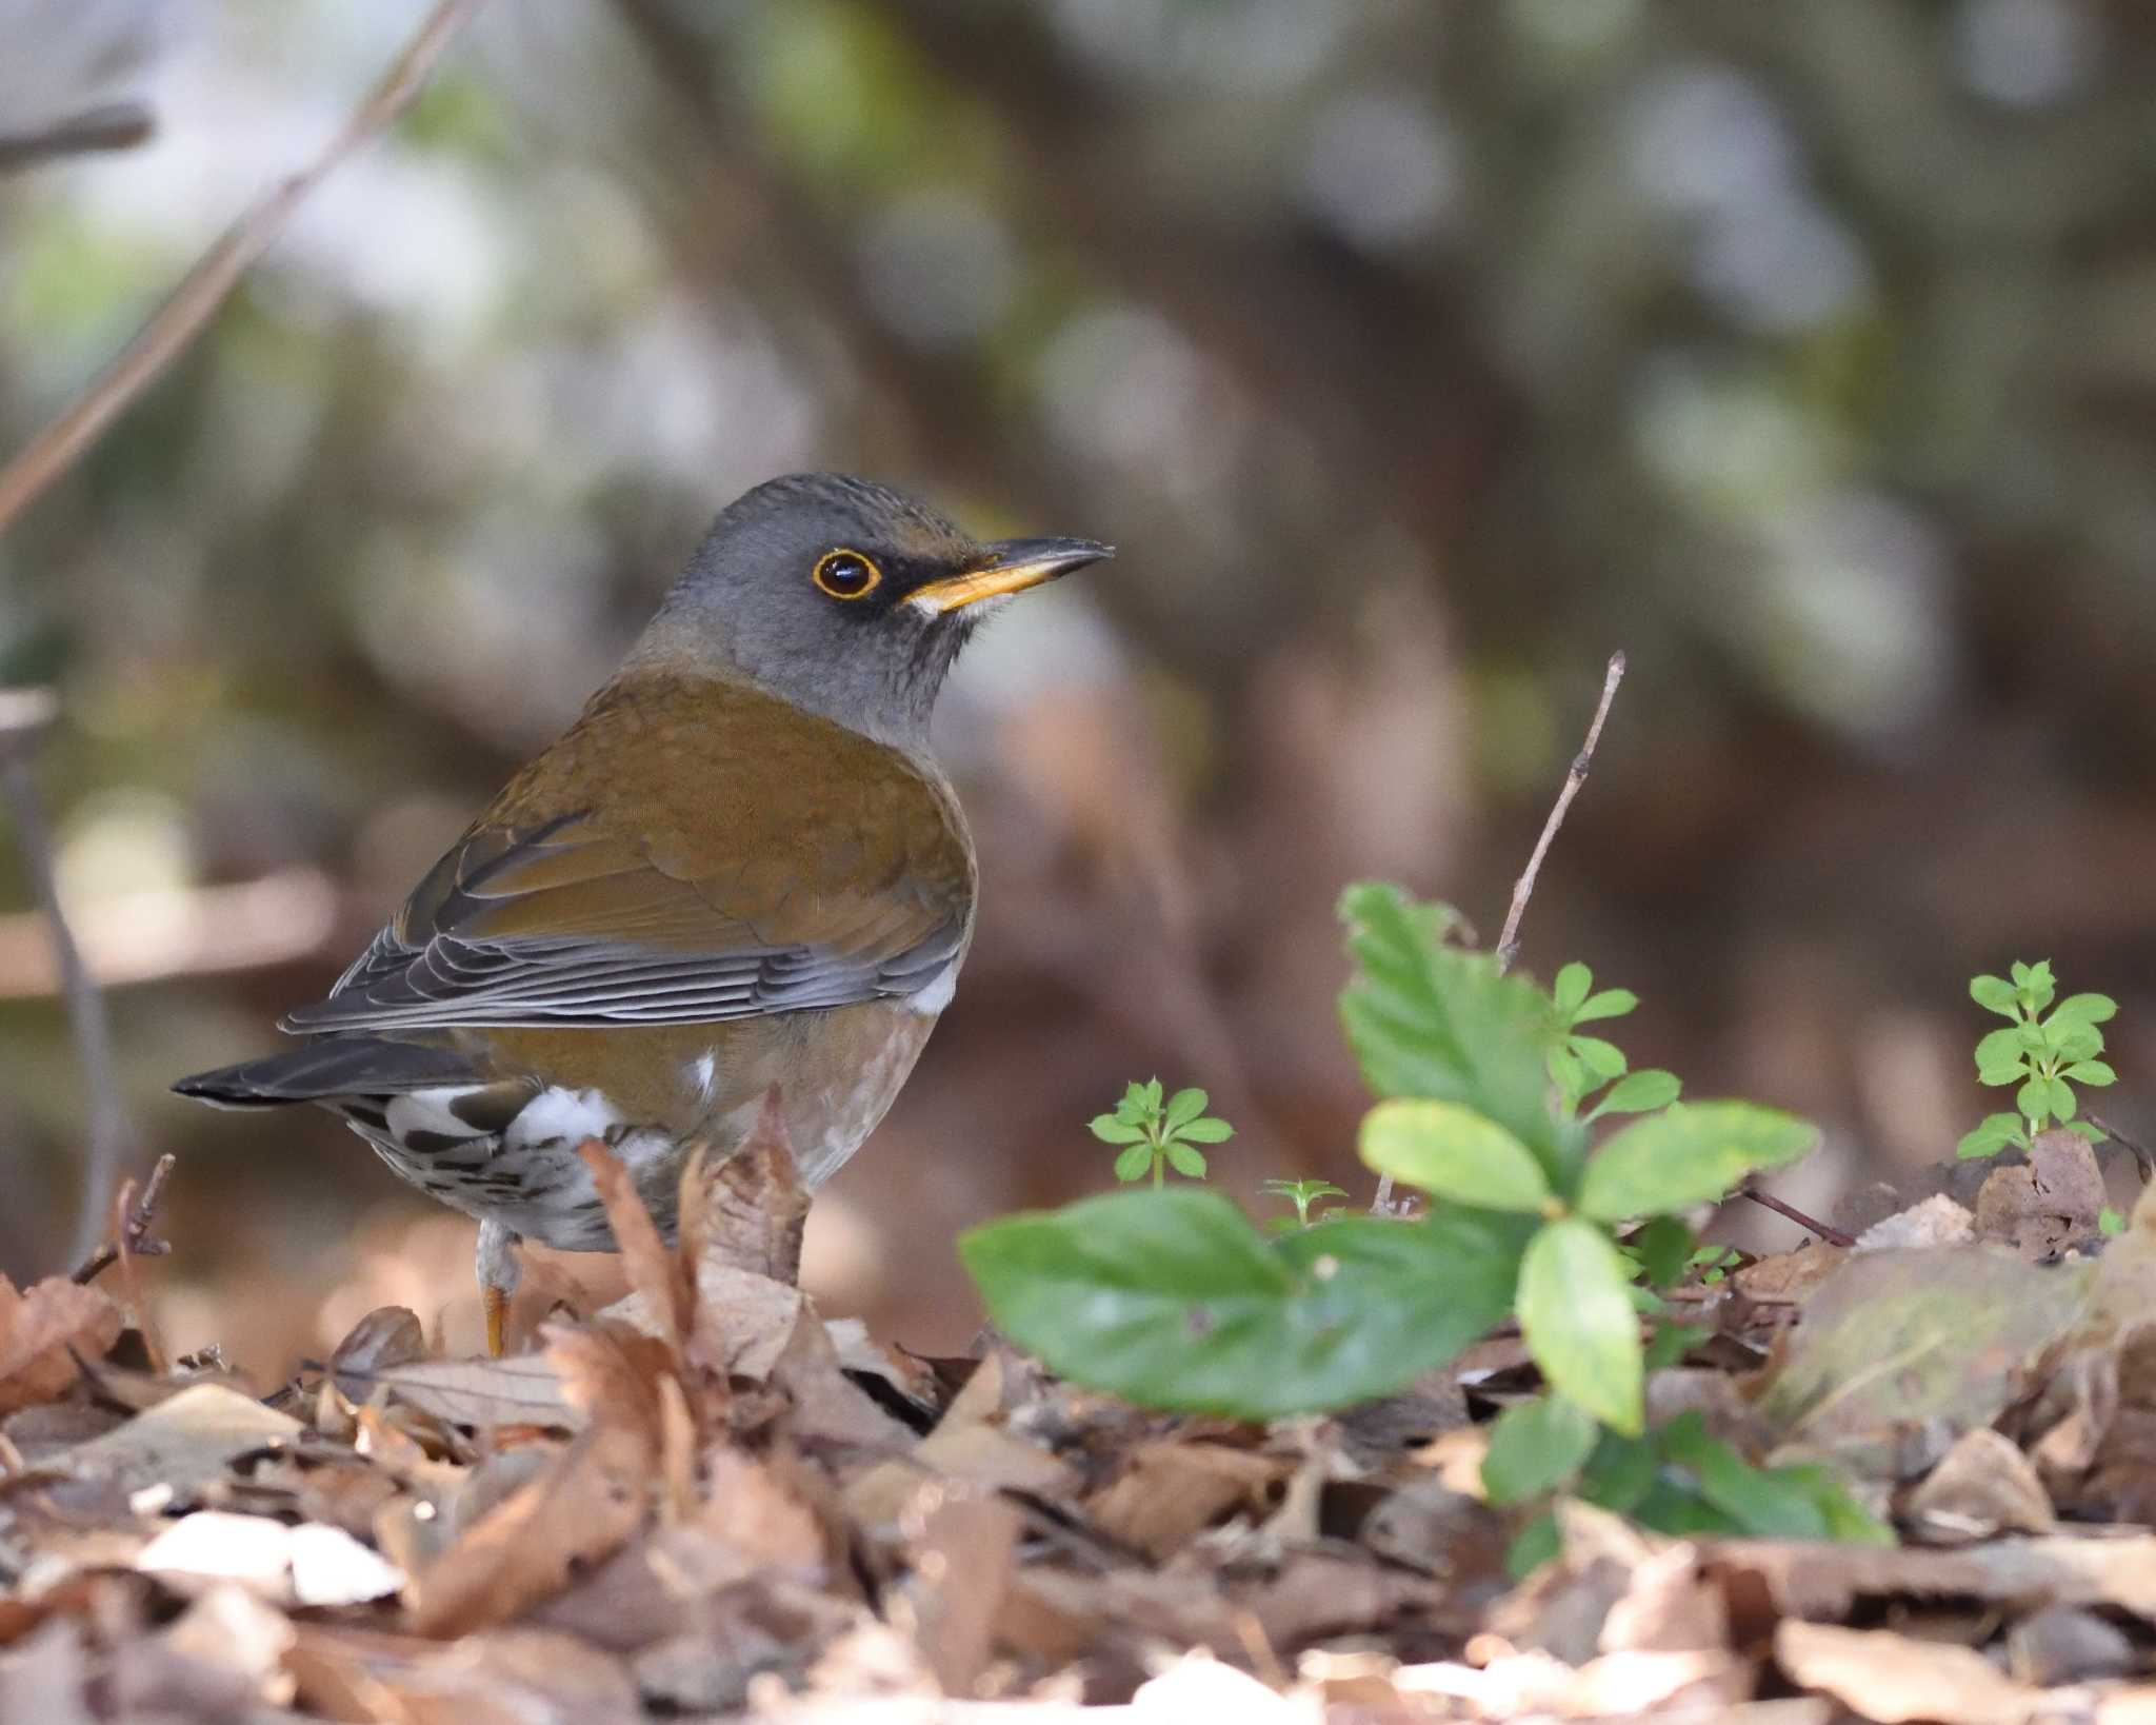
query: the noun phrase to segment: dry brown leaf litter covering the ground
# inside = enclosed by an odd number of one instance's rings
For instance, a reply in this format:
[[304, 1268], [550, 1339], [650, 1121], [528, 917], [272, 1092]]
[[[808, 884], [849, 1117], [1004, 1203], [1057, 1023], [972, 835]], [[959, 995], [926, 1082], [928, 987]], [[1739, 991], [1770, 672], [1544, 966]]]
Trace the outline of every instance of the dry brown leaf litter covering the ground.
[[802, 1296], [776, 1110], [679, 1251], [591, 1147], [634, 1292], [505, 1361], [390, 1307], [259, 1399], [0, 1281], [0, 1725], [2152, 1719], [2156, 1201], [2102, 1240], [2076, 1154], [1671, 1300], [1669, 1453], [1828, 1460], [1897, 1546], [1559, 1501], [1518, 1581], [1516, 1341], [1270, 1425], [916, 1361]]

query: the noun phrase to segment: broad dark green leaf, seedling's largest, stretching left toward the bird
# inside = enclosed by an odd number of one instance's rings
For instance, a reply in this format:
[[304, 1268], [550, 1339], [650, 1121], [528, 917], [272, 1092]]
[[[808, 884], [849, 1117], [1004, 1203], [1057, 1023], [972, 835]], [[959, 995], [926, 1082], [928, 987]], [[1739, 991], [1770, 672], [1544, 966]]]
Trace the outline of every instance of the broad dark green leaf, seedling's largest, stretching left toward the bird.
[[1115, 1192], [959, 1240], [990, 1317], [1072, 1382], [1279, 1419], [1388, 1395], [1505, 1317], [1526, 1227], [1343, 1216], [1268, 1240], [1218, 1192]]

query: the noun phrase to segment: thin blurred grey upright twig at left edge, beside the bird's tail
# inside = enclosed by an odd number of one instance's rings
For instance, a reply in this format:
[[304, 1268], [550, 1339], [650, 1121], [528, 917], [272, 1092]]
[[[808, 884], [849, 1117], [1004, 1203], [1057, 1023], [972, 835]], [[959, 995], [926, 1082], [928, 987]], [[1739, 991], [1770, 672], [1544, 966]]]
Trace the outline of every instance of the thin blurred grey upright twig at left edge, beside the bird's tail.
[[112, 1059], [112, 1024], [106, 1003], [91, 979], [75, 936], [60, 908], [60, 882], [54, 867], [52, 832], [37, 798], [37, 746], [52, 724], [58, 703], [52, 690], [0, 690], [0, 798], [15, 822], [15, 843], [24, 869], [37, 888], [39, 908], [52, 936], [52, 962], [60, 972], [60, 994], [67, 998], [67, 1022], [82, 1057], [86, 1102], [86, 1154], [82, 1158], [82, 1201], [75, 1212], [75, 1257], [97, 1244], [103, 1227], [106, 1197], [119, 1182], [121, 1164], [134, 1145], [134, 1126], [121, 1100], [119, 1065]]

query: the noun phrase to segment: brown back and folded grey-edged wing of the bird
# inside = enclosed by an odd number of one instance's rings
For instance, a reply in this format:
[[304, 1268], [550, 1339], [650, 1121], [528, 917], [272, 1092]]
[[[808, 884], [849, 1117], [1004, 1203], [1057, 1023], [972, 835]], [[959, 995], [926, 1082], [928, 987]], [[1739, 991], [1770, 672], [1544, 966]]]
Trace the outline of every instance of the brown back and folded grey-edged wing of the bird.
[[914, 994], [972, 854], [897, 750], [737, 686], [602, 694], [285, 1029], [703, 1024]]

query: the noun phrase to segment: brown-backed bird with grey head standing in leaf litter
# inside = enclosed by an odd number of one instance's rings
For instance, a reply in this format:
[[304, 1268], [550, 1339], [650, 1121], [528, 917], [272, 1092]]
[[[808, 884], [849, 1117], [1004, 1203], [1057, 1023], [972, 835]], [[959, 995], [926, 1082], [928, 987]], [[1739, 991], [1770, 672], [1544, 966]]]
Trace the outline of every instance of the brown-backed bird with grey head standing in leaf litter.
[[580, 1147], [673, 1240], [688, 1145], [776, 1087], [802, 1184], [875, 1130], [951, 1005], [979, 865], [929, 714], [975, 630], [1112, 556], [979, 541], [845, 474], [729, 505], [582, 716], [427, 871], [291, 1050], [181, 1078], [319, 1104], [479, 1223], [487, 1352], [517, 1246], [612, 1251]]

